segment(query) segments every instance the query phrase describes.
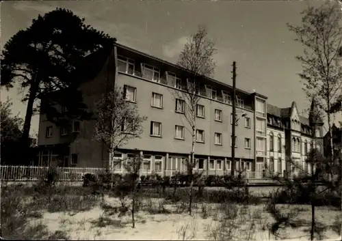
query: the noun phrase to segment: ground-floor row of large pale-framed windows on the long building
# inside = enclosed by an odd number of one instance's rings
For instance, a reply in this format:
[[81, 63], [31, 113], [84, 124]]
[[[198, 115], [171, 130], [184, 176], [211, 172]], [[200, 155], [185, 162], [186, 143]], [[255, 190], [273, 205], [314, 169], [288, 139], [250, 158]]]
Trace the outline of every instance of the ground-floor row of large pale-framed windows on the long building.
[[[132, 158], [135, 156], [134, 154], [127, 154], [127, 158]], [[123, 154], [115, 154], [114, 160], [116, 166], [114, 169], [122, 170], [122, 160], [124, 160]], [[170, 171], [186, 171], [187, 165], [185, 163], [185, 158], [181, 157], [170, 157], [169, 162], [166, 163], [166, 170]], [[196, 167], [194, 169], [205, 169], [205, 162], [207, 159], [204, 158], [196, 158]], [[220, 159], [210, 159], [209, 160], [209, 170], [217, 170], [223, 171], [224, 167], [224, 160]], [[152, 156], [151, 155], [144, 155], [142, 160], [142, 170], [150, 171], [152, 169]], [[235, 169], [246, 169], [246, 171], [251, 170], [251, 162], [248, 161], [241, 161], [235, 162]], [[155, 171], [162, 171], [163, 170], [163, 156], [155, 156]], [[231, 160], [226, 160], [226, 167], [225, 170], [231, 170]]]

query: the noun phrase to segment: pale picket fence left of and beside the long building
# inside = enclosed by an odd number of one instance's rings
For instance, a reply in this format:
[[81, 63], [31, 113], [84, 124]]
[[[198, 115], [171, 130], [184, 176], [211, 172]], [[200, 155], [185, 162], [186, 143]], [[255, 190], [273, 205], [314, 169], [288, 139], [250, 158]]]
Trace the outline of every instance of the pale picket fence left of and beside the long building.
[[[0, 166], [0, 180], [9, 182], [37, 181], [47, 173], [48, 167], [35, 166]], [[62, 182], [81, 182], [85, 173], [97, 175], [105, 171], [97, 167], [57, 167], [59, 180]]]

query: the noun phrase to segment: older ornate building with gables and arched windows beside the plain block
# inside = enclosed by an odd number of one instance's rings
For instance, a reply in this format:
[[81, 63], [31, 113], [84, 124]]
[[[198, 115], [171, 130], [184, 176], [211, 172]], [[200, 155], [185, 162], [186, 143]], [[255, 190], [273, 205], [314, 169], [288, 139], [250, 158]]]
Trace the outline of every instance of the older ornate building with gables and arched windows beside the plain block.
[[278, 108], [267, 104], [267, 163], [278, 173], [311, 171], [306, 158], [311, 148], [323, 152], [323, 123], [318, 123], [313, 138], [309, 118], [298, 113], [297, 105]]

